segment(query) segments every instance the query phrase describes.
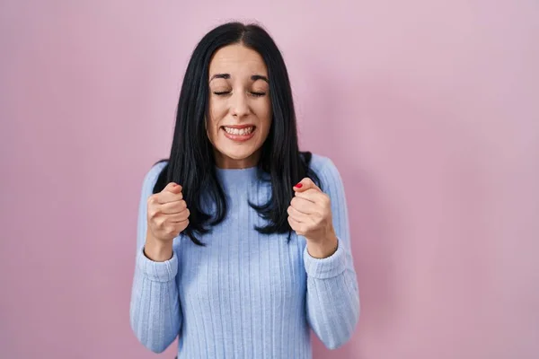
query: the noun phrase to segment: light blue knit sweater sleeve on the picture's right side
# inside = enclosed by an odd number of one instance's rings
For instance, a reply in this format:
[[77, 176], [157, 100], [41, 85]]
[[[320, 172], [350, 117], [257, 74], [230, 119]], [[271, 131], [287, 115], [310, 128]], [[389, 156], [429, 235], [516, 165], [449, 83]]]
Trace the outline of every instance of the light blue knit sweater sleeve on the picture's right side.
[[348, 209], [340, 173], [328, 158], [323, 158], [323, 164], [316, 172], [322, 181], [323, 191], [331, 199], [333, 227], [339, 247], [331, 257], [322, 259], [311, 257], [305, 247], [306, 313], [309, 325], [324, 346], [335, 349], [349, 341], [358, 324], [358, 280], [352, 259]]

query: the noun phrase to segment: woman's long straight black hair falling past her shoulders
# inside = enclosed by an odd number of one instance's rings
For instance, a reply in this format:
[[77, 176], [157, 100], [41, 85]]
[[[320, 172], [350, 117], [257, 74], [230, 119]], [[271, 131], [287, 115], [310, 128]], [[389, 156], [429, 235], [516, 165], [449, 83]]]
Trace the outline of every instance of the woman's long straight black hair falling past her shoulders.
[[[270, 99], [273, 118], [270, 133], [262, 144], [258, 167], [269, 174], [271, 197], [254, 208], [267, 225], [257, 227], [261, 233], [286, 233], [287, 207], [294, 196], [292, 187], [305, 177], [320, 186], [320, 180], [311, 170], [312, 154], [300, 152], [297, 143], [296, 112], [287, 66], [267, 31], [255, 24], [228, 22], [209, 31], [194, 49], [181, 85], [176, 113], [176, 126], [170, 158], [155, 183], [154, 193], [169, 182], [182, 186], [182, 194], [190, 209], [190, 223], [182, 232], [195, 244], [204, 245], [196, 233], [203, 234], [209, 227], [225, 219], [227, 205], [225, 192], [216, 177], [212, 144], [206, 131], [208, 114], [208, 68], [216, 50], [241, 43], [257, 51], [268, 67]], [[216, 213], [205, 213], [201, 198], [208, 197], [216, 206]]]

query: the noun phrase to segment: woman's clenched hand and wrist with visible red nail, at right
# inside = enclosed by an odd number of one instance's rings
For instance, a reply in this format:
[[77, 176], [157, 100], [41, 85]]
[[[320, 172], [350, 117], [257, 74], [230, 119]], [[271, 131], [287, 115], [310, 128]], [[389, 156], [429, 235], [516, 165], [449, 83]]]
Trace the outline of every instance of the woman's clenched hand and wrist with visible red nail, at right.
[[288, 223], [307, 240], [314, 257], [328, 257], [337, 246], [331, 217], [331, 200], [313, 180], [305, 178], [294, 187], [295, 196], [288, 206]]

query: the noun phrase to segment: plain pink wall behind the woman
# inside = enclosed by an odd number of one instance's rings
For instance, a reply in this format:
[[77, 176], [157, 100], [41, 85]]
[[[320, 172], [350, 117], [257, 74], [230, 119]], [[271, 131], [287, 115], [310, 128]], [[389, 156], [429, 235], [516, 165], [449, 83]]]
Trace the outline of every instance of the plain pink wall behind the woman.
[[362, 314], [315, 358], [539, 355], [539, 4], [287, 3], [0, 3], [2, 358], [173, 357], [129, 328], [137, 201], [229, 19], [274, 36], [347, 188]]

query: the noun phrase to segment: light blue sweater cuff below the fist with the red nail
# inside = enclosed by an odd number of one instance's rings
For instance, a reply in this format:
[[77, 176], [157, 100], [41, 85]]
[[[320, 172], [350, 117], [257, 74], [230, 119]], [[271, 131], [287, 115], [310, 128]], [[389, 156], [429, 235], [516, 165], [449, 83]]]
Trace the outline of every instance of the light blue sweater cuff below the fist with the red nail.
[[339, 276], [346, 269], [346, 253], [340, 239], [339, 247], [328, 258], [314, 258], [309, 254], [307, 247], [304, 250], [305, 272], [307, 276], [317, 279], [328, 279]]

